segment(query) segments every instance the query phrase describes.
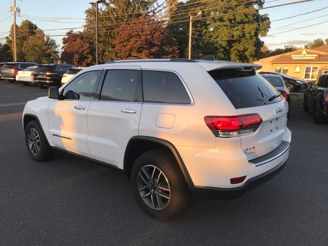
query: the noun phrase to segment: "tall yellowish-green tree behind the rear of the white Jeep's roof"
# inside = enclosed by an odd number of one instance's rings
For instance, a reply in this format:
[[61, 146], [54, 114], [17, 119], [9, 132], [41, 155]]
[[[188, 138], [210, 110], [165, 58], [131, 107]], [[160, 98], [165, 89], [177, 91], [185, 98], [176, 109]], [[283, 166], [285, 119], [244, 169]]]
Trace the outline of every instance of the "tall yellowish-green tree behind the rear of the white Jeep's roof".
[[[270, 28], [268, 14], [260, 14], [255, 6], [262, 7], [264, 0], [240, 3], [237, 0], [210, 0], [209, 6], [221, 6], [206, 11], [213, 15], [207, 20], [208, 33], [212, 43], [218, 48], [219, 59], [251, 62], [260, 57], [265, 36]], [[243, 12], [250, 10], [250, 12]], [[233, 14], [235, 12], [239, 12]], [[219, 16], [214, 16], [219, 15]]]

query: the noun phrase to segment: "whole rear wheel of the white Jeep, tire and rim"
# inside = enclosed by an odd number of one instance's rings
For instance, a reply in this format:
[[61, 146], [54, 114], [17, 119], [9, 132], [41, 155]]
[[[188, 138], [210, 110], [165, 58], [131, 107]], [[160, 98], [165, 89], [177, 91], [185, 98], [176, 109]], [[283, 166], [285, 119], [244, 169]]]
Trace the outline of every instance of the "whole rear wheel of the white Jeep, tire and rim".
[[168, 220], [188, 206], [190, 191], [169, 152], [141, 154], [132, 166], [131, 183], [140, 207], [156, 219]]

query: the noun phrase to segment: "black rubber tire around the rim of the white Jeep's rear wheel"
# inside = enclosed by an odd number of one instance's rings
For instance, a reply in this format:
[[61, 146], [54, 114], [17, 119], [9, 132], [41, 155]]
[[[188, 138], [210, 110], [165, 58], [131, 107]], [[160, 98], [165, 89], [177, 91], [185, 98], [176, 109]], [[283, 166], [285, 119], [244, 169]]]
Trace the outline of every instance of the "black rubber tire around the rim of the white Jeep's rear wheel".
[[[154, 202], [152, 203], [152, 206], [154, 208], [151, 208], [146, 201], [141, 197], [141, 194], [139, 193], [138, 188], [138, 180], [140, 180], [139, 177], [139, 171], [142, 173], [142, 168], [148, 168], [148, 167], [156, 167], [159, 171], [162, 172], [161, 178], [165, 178], [163, 180], [167, 180], [169, 192], [169, 199], [165, 198], [161, 201], [164, 201], [166, 203], [166, 207], [163, 207], [162, 209], [159, 209], [159, 202], [157, 202], [157, 192], [161, 193], [163, 190], [155, 190], [151, 193], [151, 197], [153, 195], [155, 203], [157, 203], [157, 207], [154, 206]], [[154, 175], [155, 176], [155, 175]], [[146, 176], [145, 176], [146, 177]], [[159, 176], [158, 176], [159, 177]], [[139, 179], [138, 179], [139, 178]], [[159, 180], [155, 182], [159, 182]], [[163, 181], [161, 181], [163, 182]], [[164, 181], [165, 182], [165, 181]], [[180, 214], [183, 210], [185, 210], [189, 204], [190, 201], [190, 191], [189, 188], [185, 182], [185, 180], [182, 177], [182, 174], [178, 168], [178, 165], [174, 159], [174, 157], [166, 151], [161, 150], [152, 150], [148, 151], [144, 154], [141, 154], [133, 163], [132, 169], [131, 169], [131, 184], [132, 184], [132, 192], [134, 197], [136, 198], [137, 202], [139, 203], [140, 207], [150, 216], [152, 216], [155, 219], [158, 220], [168, 220], [170, 218], [173, 218], [174, 216], [177, 216]], [[149, 190], [145, 190], [145, 193], [151, 191], [150, 188], [146, 188]], [[167, 192], [167, 191], [165, 191]], [[159, 197], [159, 196], [158, 196]], [[156, 200], [155, 200], [156, 198]], [[150, 198], [149, 198], [150, 199]], [[160, 202], [161, 202], [160, 201]]]

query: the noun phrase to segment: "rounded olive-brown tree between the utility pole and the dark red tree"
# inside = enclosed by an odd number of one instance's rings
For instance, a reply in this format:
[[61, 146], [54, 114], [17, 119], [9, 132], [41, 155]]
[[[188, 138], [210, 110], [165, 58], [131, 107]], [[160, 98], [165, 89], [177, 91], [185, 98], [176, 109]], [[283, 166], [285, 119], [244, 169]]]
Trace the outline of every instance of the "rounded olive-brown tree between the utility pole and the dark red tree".
[[22, 51], [26, 61], [35, 63], [53, 63], [59, 59], [58, 45], [53, 38], [45, 35], [42, 30], [36, 30], [35, 35], [29, 36]]

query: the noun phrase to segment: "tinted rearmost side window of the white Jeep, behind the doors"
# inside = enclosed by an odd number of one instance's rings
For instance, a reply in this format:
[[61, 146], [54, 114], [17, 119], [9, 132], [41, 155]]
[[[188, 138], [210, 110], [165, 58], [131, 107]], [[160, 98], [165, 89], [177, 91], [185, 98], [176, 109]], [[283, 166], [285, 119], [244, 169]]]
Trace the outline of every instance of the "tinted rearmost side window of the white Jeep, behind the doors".
[[144, 101], [147, 103], [190, 104], [180, 78], [173, 72], [142, 71]]

